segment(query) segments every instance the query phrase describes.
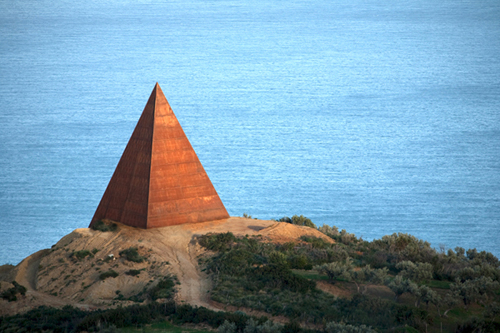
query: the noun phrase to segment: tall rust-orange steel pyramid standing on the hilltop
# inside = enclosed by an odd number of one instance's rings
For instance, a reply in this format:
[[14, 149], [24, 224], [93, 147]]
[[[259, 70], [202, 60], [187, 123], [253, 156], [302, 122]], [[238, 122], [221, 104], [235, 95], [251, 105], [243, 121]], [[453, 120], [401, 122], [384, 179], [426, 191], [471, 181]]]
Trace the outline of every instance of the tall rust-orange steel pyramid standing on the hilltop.
[[90, 225], [110, 219], [148, 229], [228, 217], [157, 83]]

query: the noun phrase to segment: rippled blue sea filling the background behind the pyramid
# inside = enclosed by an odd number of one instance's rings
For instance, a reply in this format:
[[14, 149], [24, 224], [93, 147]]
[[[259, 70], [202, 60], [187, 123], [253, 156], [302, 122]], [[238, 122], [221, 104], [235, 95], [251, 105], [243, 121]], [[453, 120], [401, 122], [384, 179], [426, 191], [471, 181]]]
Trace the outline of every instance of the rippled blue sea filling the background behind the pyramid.
[[500, 255], [500, 2], [0, 1], [0, 264], [86, 227], [159, 82], [231, 215]]

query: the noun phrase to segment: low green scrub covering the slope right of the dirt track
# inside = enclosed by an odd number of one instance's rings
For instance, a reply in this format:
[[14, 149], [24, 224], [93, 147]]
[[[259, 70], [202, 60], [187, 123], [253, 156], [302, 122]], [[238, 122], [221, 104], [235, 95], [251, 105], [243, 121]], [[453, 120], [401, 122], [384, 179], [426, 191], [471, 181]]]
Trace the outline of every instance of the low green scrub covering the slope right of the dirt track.
[[[303, 216], [278, 221], [316, 228]], [[331, 330], [345, 332], [500, 331], [500, 264], [491, 253], [437, 251], [403, 233], [368, 242], [336, 227], [317, 229], [335, 244], [310, 236], [286, 244], [231, 233], [200, 237], [215, 252], [202, 262], [213, 280], [211, 298], [306, 325], [335, 323]], [[324, 279], [347, 295], [318, 289]]]

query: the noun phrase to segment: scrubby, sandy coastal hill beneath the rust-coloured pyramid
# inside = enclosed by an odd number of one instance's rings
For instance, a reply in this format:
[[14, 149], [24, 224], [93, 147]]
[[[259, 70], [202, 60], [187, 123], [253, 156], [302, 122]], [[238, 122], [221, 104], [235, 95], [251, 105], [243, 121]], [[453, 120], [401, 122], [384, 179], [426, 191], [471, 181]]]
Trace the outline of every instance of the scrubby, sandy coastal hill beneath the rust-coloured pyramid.
[[165, 321], [221, 333], [500, 330], [500, 261], [485, 251], [404, 233], [366, 241], [302, 215], [100, 223], [0, 268], [0, 331]]

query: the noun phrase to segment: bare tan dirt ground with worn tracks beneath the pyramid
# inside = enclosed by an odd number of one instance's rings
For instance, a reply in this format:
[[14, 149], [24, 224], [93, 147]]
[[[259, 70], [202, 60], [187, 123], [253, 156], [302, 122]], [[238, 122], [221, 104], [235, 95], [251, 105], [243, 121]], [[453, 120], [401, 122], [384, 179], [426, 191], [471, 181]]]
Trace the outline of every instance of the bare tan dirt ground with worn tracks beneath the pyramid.
[[[173, 274], [177, 301], [213, 308], [207, 298], [209, 279], [198, 267], [205, 252], [195, 241], [207, 233], [232, 232], [236, 236], [262, 235], [268, 241], [298, 241], [301, 236], [332, 240], [319, 231], [283, 222], [231, 217], [229, 219], [178, 226], [137, 229], [118, 224], [114, 232], [76, 229], [51, 249], [39, 251], [19, 265], [0, 267], [1, 289], [17, 281], [27, 288], [16, 302], [0, 300], [0, 316], [24, 312], [39, 305], [73, 305], [83, 309], [107, 308], [154, 286]], [[142, 262], [127, 260], [120, 252], [136, 248]], [[117, 276], [102, 278], [114, 271]], [[131, 275], [131, 271], [139, 271]]]

